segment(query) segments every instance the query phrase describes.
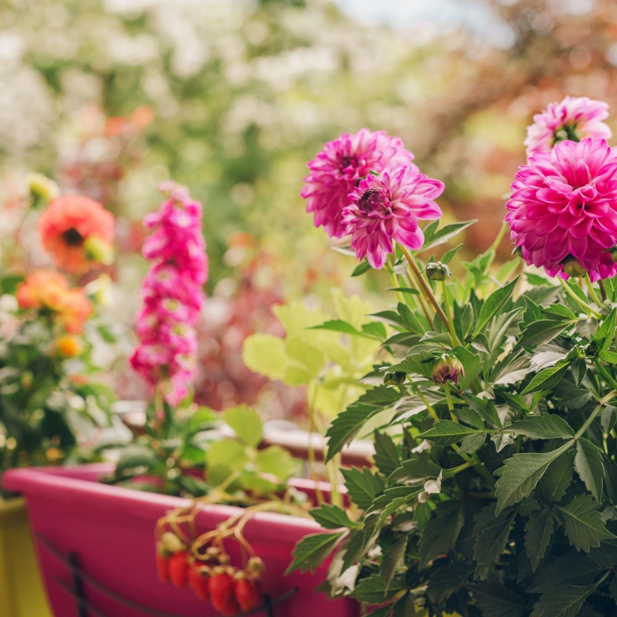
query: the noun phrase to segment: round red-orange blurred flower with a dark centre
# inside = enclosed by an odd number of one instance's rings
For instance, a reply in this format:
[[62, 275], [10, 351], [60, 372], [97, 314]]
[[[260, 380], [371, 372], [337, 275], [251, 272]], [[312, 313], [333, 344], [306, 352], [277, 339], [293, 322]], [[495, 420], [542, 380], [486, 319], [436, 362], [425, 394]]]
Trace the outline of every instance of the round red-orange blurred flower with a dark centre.
[[72, 194], [54, 199], [41, 213], [38, 228], [44, 248], [60, 268], [76, 272], [91, 260], [107, 263], [114, 215], [94, 199]]

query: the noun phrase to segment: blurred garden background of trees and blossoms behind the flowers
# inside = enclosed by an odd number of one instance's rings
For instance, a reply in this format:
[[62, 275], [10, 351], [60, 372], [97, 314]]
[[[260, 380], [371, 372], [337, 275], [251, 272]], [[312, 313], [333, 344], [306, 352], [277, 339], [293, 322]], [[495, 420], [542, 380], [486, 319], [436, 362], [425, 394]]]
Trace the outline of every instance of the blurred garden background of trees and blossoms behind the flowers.
[[26, 172], [104, 202], [119, 238], [108, 311], [127, 333], [107, 360], [120, 394], [138, 396], [125, 357], [140, 220], [160, 181], [186, 184], [210, 255], [196, 395], [216, 408], [266, 397], [289, 413], [302, 392], [244, 367], [244, 338], [280, 333], [275, 304], [383, 288], [379, 275], [350, 279], [355, 261], [304, 212], [305, 162], [321, 144], [362, 126], [399, 135], [445, 182], [445, 217], [479, 219], [467, 231], [479, 252], [532, 115], [566, 94], [615, 109], [616, 66], [610, 0], [4, 0], [0, 237], [19, 228], [27, 248], [4, 251], [3, 267], [46, 259], [21, 226]]

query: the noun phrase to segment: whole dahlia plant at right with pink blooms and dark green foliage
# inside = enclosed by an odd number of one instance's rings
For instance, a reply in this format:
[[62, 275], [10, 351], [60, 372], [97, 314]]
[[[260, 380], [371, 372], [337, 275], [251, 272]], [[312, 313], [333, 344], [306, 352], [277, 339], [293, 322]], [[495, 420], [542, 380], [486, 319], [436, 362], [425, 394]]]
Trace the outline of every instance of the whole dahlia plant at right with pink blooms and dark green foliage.
[[[382, 340], [383, 385], [328, 431], [331, 458], [377, 427], [375, 468], [343, 471], [362, 516], [316, 512], [331, 530], [300, 541], [290, 571], [334, 553], [323, 589], [373, 617], [617, 613], [617, 151], [606, 109], [567, 97], [534, 118], [502, 230], [467, 262], [454, 260], [462, 245], [441, 245], [471, 222], [418, 225], [441, 216], [443, 185], [399, 139], [363, 129], [309, 163], [302, 194], [316, 225], [349, 235], [362, 270], [387, 270], [397, 303], [373, 316], [394, 331]], [[517, 254], [496, 269], [508, 228]]]

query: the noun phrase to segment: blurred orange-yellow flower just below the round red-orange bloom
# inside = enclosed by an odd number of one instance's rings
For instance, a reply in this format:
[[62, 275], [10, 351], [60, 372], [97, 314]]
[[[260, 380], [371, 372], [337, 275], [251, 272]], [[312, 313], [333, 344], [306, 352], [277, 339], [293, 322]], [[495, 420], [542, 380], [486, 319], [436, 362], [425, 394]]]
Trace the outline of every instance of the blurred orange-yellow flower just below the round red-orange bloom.
[[93, 312], [83, 289], [71, 289], [65, 276], [49, 270], [31, 272], [17, 287], [17, 302], [22, 309], [51, 311], [71, 334], [81, 333]]

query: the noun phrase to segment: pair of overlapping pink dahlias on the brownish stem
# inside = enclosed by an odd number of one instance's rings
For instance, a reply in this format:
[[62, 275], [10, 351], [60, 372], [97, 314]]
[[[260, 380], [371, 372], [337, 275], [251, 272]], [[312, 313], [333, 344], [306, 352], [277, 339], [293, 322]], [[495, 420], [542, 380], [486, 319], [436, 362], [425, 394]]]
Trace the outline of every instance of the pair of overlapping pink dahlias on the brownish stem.
[[381, 268], [394, 242], [420, 249], [418, 219], [441, 217], [433, 201], [444, 184], [420, 173], [399, 138], [363, 128], [325, 144], [309, 162], [300, 195], [315, 225], [333, 238], [351, 236], [358, 259]]

